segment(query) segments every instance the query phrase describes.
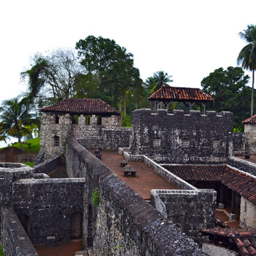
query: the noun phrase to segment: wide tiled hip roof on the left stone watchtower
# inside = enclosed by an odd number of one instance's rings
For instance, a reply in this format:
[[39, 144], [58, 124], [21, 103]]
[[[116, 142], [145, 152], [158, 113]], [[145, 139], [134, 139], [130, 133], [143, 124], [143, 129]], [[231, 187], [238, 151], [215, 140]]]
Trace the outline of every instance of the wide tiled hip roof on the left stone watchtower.
[[100, 99], [70, 98], [41, 109], [43, 112], [120, 115], [115, 108]]

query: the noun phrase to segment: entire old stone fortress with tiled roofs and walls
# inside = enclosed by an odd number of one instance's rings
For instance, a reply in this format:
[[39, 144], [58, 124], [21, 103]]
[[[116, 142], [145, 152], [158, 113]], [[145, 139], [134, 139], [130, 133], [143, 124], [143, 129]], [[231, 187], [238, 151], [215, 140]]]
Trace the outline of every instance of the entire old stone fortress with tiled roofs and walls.
[[[234, 157], [255, 154], [256, 116], [236, 134], [232, 113], [205, 111], [212, 97], [202, 90], [163, 86], [148, 100], [132, 128], [120, 127], [120, 113], [99, 99], [42, 109], [34, 168], [0, 166], [5, 256], [34, 256], [33, 244], [71, 237], [83, 237], [94, 255], [256, 255], [256, 164]], [[188, 111], [172, 109], [176, 101]], [[201, 111], [189, 110], [195, 104]], [[143, 162], [177, 189], [152, 189], [147, 202], [89, 152], [95, 148]], [[49, 179], [63, 159], [68, 179]], [[215, 211], [230, 220], [215, 220]]]

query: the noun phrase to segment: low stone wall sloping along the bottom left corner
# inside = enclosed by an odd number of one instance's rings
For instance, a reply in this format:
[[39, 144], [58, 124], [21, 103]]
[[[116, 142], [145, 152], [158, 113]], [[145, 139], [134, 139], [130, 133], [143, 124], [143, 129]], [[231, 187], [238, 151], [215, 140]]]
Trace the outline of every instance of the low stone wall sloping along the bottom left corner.
[[1, 208], [1, 242], [4, 256], [38, 256], [12, 208]]

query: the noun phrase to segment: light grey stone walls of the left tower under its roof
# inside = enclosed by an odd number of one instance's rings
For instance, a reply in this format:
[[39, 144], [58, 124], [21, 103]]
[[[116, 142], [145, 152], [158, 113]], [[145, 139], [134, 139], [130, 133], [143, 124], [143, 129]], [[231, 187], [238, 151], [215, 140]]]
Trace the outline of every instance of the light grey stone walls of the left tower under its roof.
[[[41, 117], [41, 141], [40, 159], [50, 159], [55, 156], [65, 154], [67, 138], [75, 138], [86, 148], [102, 147], [117, 149], [118, 147], [128, 147], [131, 128], [120, 127], [120, 116], [111, 115], [102, 117], [101, 124], [97, 124], [97, 116], [90, 117], [90, 124], [86, 124], [86, 116], [78, 116], [78, 124], [72, 124], [72, 116], [69, 114], [58, 115], [56, 124], [56, 114], [43, 113]], [[54, 137], [58, 137], [59, 145], [55, 145]], [[42, 161], [42, 160], [40, 160]], [[36, 161], [36, 163], [40, 163]]]

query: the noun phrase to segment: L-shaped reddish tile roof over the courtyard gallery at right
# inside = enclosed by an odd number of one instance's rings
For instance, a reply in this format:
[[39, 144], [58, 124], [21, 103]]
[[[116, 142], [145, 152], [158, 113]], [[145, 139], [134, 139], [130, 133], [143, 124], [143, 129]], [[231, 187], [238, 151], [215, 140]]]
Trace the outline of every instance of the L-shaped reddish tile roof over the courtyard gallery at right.
[[186, 181], [220, 181], [228, 188], [256, 204], [256, 179], [226, 165], [162, 165], [163, 168]]

